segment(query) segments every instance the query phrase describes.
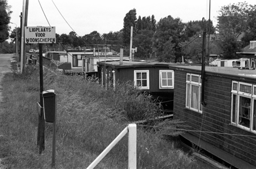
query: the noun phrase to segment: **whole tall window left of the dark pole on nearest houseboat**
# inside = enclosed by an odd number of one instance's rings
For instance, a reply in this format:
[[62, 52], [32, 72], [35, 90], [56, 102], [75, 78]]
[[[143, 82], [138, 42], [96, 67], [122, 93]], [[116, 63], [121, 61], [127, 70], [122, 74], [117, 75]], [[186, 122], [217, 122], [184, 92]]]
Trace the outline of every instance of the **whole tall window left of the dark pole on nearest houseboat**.
[[201, 75], [186, 74], [186, 108], [202, 113]]

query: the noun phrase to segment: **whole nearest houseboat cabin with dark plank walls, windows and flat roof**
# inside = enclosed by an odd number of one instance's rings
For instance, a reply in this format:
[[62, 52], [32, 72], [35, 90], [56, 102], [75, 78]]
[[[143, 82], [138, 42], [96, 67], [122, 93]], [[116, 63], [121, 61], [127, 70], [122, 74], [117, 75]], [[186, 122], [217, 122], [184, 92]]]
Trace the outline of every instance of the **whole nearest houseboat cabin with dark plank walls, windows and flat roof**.
[[256, 168], [256, 72], [206, 67], [201, 104], [201, 66], [170, 66], [173, 118], [190, 127], [182, 136], [237, 168]]

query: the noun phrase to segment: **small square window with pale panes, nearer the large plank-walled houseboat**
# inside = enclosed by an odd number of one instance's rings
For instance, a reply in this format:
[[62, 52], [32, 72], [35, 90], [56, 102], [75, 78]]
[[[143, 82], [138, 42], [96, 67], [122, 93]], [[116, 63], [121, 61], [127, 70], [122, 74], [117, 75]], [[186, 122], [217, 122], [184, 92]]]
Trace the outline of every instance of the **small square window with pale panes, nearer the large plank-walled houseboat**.
[[173, 88], [174, 74], [173, 70], [159, 70], [159, 88]]

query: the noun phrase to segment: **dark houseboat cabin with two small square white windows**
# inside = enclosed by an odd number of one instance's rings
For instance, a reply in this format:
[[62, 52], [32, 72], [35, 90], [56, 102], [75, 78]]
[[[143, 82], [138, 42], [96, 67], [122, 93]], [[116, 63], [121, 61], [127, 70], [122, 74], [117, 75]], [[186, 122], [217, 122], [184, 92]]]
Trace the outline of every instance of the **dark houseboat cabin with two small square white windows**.
[[134, 82], [134, 87], [149, 92], [154, 99], [162, 102], [164, 112], [173, 113], [173, 70], [170, 64], [149, 63], [144, 61], [107, 61], [99, 62], [102, 84], [108, 79], [112, 83], [121, 81]]

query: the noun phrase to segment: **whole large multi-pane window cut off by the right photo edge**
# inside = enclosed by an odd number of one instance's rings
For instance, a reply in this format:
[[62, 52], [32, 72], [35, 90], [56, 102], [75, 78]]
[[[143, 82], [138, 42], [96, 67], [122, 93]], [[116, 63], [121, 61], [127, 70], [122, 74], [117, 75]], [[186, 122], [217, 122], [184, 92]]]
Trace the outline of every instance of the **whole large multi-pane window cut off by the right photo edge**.
[[232, 82], [231, 124], [256, 132], [256, 85]]

